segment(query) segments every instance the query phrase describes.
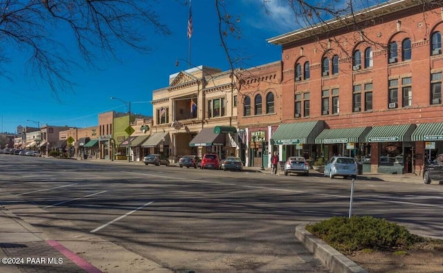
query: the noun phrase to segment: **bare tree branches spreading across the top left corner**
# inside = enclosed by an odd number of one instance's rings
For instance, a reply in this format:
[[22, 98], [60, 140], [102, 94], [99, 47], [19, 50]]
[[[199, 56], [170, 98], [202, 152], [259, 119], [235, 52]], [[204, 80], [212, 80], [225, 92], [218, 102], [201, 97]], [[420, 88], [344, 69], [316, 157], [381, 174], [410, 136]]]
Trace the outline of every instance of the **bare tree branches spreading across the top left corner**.
[[[47, 82], [53, 95], [72, 90], [69, 70], [76, 64], [66, 55], [64, 40], [73, 38], [91, 65], [102, 56], [118, 59], [117, 44], [150, 52], [152, 32], [170, 34], [151, 2], [156, 1], [0, 0], [0, 75], [6, 75], [8, 53], [18, 50], [28, 59], [28, 73]], [[55, 35], [57, 29], [64, 36]]]

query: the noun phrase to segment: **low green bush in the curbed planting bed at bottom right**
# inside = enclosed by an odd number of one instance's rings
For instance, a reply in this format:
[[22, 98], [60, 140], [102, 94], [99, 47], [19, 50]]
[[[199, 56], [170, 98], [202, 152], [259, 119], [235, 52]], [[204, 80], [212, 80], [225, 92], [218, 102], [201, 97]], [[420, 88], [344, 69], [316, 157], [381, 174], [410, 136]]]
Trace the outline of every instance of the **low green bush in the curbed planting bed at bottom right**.
[[405, 227], [372, 216], [333, 217], [307, 225], [306, 230], [343, 253], [406, 248], [423, 240]]

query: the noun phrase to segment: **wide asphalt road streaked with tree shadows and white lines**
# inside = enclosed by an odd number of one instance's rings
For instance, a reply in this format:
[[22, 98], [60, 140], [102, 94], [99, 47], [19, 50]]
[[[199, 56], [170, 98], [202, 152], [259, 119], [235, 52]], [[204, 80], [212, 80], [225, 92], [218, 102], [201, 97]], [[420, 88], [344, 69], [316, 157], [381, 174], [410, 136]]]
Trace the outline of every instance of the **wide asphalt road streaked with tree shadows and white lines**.
[[[0, 155], [1, 204], [175, 271], [327, 272], [296, 225], [348, 216], [352, 180]], [[443, 187], [356, 180], [352, 214], [443, 236]]]

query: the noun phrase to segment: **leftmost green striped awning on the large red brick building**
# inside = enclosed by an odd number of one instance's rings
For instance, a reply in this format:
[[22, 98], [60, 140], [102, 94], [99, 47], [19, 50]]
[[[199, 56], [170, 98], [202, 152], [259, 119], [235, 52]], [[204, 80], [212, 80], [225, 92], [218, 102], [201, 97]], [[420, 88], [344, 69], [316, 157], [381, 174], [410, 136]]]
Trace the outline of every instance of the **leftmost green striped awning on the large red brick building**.
[[325, 129], [323, 120], [283, 123], [271, 135], [271, 143], [273, 145], [314, 144], [323, 129]]

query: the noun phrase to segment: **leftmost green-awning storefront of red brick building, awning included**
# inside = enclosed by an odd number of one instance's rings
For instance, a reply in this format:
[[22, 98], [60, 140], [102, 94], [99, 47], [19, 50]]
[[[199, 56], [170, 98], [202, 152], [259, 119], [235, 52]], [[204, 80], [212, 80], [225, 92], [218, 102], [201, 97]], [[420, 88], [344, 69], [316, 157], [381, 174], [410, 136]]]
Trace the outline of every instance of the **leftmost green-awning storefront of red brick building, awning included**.
[[324, 156], [315, 142], [323, 129], [323, 120], [280, 124], [271, 136], [271, 144], [279, 146], [279, 160], [286, 160], [289, 156], [315, 160]]

